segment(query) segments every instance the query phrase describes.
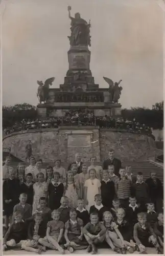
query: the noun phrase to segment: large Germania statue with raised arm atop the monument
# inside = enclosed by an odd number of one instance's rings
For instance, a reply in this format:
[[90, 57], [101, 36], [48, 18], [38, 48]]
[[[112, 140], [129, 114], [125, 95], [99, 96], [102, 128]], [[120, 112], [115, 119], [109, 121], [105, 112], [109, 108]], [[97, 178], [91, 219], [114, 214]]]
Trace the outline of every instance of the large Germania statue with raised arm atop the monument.
[[71, 35], [68, 36], [70, 46], [91, 46], [90, 44], [90, 20], [89, 24], [81, 18], [80, 13], [75, 13], [75, 17], [70, 14], [71, 6], [67, 7], [69, 18], [71, 19]]

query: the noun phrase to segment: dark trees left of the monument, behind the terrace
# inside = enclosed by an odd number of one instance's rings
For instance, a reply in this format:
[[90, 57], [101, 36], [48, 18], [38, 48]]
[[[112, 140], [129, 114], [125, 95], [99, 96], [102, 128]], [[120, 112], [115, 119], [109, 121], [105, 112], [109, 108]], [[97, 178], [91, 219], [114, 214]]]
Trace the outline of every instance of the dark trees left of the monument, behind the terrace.
[[3, 106], [3, 128], [11, 127], [15, 123], [20, 123], [22, 119], [36, 119], [36, 106], [28, 103], [15, 104], [13, 106]]

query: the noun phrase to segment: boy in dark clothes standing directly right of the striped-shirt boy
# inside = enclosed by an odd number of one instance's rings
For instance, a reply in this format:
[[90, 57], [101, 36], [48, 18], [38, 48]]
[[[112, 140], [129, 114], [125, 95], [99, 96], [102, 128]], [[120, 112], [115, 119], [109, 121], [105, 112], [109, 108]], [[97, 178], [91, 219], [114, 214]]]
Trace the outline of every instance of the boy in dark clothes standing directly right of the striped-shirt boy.
[[140, 204], [140, 207], [143, 211], [146, 211], [146, 203], [149, 201], [148, 185], [143, 181], [143, 173], [137, 173], [137, 181], [133, 185], [134, 194], [137, 199], [137, 204]]

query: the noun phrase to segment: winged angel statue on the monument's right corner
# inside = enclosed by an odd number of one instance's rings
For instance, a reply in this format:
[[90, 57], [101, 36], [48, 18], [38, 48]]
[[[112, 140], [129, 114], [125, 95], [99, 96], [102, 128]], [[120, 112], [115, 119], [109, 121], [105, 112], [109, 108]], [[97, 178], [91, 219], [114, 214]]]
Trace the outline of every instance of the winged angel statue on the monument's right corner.
[[117, 103], [123, 90], [121, 86], [119, 87], [119, 84], [122, 82], [122, 80], [120, 80], [119, 82], [113, 82], [107, 77], [103, 76], [103, 78], [109, 84], [110, 102]]

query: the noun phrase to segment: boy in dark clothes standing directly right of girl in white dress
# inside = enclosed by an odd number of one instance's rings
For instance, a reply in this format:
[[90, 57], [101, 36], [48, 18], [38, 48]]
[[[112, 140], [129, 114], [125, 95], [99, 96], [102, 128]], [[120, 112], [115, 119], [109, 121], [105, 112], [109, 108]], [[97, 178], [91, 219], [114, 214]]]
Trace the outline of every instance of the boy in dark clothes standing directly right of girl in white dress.
[[112, 201], [115, 196], [115, 187], [114, 182], [110, 181], [108, 177], [107, 170], [103, 170], [103, 179], [101, 181], [101, 196], [103, 205], [110, 209], [112, 207]]

